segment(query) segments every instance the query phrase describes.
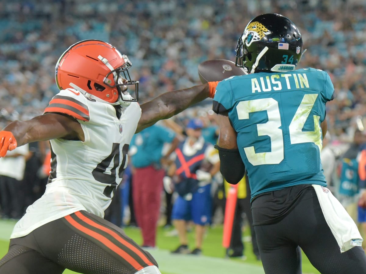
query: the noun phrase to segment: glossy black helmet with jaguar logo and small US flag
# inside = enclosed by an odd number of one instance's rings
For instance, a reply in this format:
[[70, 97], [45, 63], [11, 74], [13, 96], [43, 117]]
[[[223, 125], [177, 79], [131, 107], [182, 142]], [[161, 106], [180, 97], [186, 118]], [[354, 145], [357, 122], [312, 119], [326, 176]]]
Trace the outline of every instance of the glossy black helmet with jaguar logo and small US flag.
[[300, 31], [280, 14], [252, 19], [236, 46], [235, 65], [249, 73], [292, 71], [303, 53]]

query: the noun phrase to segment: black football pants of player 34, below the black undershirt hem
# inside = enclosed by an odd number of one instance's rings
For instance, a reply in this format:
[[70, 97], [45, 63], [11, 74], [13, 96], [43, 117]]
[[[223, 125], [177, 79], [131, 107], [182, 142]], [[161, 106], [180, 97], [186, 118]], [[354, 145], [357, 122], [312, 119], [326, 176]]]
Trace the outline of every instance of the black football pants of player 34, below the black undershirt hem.
[[340, 252], [315, 190], [299, 199], [281, 221], [254, 227], [265, 273], [301, 273], [301, 248], [322, 274], [365, 274], [365, 252], [359, 246]]

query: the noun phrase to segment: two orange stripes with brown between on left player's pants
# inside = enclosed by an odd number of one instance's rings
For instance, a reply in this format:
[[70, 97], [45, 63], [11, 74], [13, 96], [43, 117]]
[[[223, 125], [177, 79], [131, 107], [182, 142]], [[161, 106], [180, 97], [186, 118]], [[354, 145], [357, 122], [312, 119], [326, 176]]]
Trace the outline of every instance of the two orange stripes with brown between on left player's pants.
[[[136, 270], [140, 270], [146, 265], [154, 265], [141, 250], [113, 231], [113, 229], [92, 220], [90, 217], [82, 214], [81, 212], [75, 212], [72, 215], [75, 216], [75, 219], [70, 215], [66, 216], [65, 219], [74, 228], [102, 243], [109, 250], [121, 256]], [[120, 244], [122, 244], [124, 248], [127, 248], [128, 251], [121, 248]], [[142, 265], [139, 263], [138, 259], [141, 261], [141, 263], [143, 262], [145, 264]]]

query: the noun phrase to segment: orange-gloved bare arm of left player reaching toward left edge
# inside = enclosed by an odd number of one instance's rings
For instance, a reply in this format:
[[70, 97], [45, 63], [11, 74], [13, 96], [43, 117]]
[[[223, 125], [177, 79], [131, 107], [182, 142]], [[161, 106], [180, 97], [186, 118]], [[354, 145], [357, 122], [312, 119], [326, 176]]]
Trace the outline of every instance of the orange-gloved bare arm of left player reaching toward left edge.
[[68, 115], [46, 113], [29, 121], [14, 121], [0, 131], [0, 156], [16, 146], [55, 138], [84, 141], [84, 133], [80, 123]]

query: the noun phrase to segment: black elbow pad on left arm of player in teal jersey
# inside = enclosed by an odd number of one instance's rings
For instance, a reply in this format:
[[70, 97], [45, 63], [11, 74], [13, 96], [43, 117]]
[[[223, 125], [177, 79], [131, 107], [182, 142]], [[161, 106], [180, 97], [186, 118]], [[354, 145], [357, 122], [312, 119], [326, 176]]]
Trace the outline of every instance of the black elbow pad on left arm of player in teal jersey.
[[245, 175], [245, 165], [239, 149], [225, 149], [214, 146], [219, 151], [220, 172], [230, 184], [237, 184]]

